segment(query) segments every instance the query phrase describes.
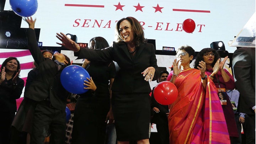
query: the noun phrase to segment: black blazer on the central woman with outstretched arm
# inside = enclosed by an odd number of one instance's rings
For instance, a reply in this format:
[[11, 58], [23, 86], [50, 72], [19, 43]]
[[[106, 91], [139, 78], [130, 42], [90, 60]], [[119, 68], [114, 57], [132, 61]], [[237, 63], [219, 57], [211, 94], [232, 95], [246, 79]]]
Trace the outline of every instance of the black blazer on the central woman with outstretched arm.
[[158, 78], [155, 48], [150, 43], [140, 43], [140, 46], [136, 47], [136, 53], [133, 57], [124, 42], [113, 42], [112, 47], [102, 50], [80, 48], [79, 52], [75, 53], [75, 56], [78, 56], [78, 59], [114, 60], [117, 62], [120, 69], [112, 85], [112, 91], [114, 92], [150, 93], [149, 82], [145, 81], [144, 76], [141, 74], [150, 66], [153, 66], [156, 70], [154, 78]]

